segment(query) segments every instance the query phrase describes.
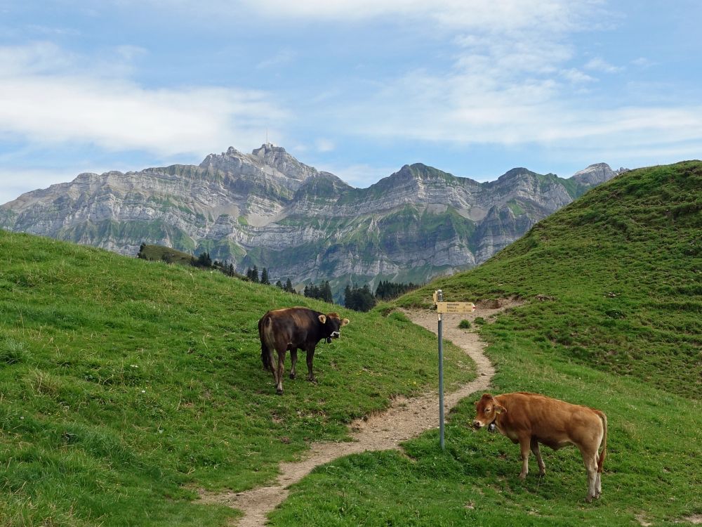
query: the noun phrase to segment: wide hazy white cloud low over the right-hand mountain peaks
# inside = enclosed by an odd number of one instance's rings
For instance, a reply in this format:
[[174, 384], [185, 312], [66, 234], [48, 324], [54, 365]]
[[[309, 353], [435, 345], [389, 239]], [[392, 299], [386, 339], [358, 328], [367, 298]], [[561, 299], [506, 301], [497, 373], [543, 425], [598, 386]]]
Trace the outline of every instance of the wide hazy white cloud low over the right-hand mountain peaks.
[[[422, 88], [413, 89], [418, 84]], [[427, 86], [432, 86], [428, 89]], [[393, 101], [402, 95], [402, 106]], [[371, 106], [350, 108], [358, 134], [453, 144], [539, 144], [597, 152], [618, 145], [621, 153], [642, 145], [670, 148], [702, 140], [702, 107], [588, 108], [548, 82], [480, 91], [465, 77], [404, 79], [388, 86]], [[361, 103], [364, 104], [364, 103]], [[412, 112], [404, 112], [412, 108]], [[364, 115], [355, 119], [354, 115]], [[693, 151], [694, 152], [694, 151]]]

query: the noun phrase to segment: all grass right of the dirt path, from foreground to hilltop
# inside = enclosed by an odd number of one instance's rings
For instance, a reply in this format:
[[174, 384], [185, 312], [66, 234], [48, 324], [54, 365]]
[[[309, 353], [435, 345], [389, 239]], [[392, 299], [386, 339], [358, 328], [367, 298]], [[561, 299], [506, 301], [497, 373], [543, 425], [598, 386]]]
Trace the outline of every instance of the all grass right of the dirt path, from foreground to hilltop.
[[445, 453], [432, 432], [405, 444], [408, 457], [320, 467], [274, 525], [673, 525], [702, 513], [701, 189], [700, 162], [624, 174], [479, 268], [397, 301], [425, 306], [436, 288], [456, 301], [524, 297], [480, 330], [494, 393], [536, 391], [607, 413], [600, 500], [583, 501], [574, 448], [543, 448], [545, 478], [532, 456], [519, 481], [517, 445], [470, 430], [477, 393], [451, 415]]

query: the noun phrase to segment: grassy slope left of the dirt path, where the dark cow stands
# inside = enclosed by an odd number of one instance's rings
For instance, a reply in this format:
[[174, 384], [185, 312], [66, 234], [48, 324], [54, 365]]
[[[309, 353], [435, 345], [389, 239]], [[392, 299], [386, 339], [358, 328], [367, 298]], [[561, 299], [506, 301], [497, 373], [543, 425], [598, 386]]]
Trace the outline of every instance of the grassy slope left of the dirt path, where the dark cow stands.
[[[319, 384], [286, 379], [279, 397], [256, 322], [293, 305], [352, 322], [319, 344]], [[0, 231], [0, 525], [223, 525], [234, 513], [188, 489], [258, 486], [309, 441], [342, 440], [433, 386], [435, 346], [399, 313]], [[473, 377], [448, 353], [449, 382]]]

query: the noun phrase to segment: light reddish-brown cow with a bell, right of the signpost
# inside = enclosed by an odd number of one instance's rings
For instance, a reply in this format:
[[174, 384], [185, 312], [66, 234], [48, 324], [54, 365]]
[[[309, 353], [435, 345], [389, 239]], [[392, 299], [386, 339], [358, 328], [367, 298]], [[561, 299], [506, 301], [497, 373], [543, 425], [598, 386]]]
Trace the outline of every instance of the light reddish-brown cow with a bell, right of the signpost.
[[[536, 456], [539, 474], [546, 473], [538, 443], [558, 450], [576, 445], [588, 470], [588, 502], [602, 493], [602, 464], [607, 455], [607, 416], [587, 406], [571, 405], [538, 393], [504, 393], [491, 396], [484, 393], [475, 403], [477, 415], [473, 428], [497, 427], [503, 436], [519, 443], [522, 452], [520, 479], [529, 472], [529, 450]], [[602, 444], [602, 453], [597, 450]]]

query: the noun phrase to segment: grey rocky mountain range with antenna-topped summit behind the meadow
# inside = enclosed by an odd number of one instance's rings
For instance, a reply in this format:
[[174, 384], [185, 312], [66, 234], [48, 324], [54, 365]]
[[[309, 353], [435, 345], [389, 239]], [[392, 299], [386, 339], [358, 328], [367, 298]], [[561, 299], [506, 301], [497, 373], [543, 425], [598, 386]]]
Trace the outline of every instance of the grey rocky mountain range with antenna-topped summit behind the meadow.
[[560, 178], [515, 168], [479, 183], [416, 163], [353, 188], [266, 143], [199, 165], [79, 174], [2, 205], [0, 227], [121, 254], [143, 242], [206, 251], [297, 285], [419, 283], [482, 263], [624, 170], [598, 163]]

